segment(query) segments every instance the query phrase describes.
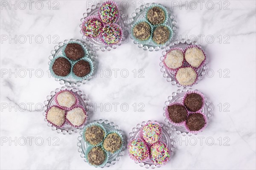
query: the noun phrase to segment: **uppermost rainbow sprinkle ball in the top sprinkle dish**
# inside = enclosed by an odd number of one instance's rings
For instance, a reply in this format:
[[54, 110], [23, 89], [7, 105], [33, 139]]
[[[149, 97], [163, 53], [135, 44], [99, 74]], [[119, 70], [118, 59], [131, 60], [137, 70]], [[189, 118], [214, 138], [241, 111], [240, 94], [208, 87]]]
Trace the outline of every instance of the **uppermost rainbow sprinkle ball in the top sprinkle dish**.
[[109, 1], [103, 3], [99, 9], [99, 16], [103, 23], [115, 23], [118, 15], [116, 4]]

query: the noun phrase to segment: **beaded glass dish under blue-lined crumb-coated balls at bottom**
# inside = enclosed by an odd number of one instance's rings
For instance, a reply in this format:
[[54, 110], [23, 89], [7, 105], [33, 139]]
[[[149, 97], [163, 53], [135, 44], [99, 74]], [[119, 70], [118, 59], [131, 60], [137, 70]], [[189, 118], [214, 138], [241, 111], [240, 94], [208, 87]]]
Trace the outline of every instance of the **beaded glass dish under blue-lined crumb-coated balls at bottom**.
[[[120, 160], [120, 156], [123, 156], [124, 155], [124, 150], [127, 146], [127, 138], [125, 137], [125, 135], [123, 134], [122, 130], [119, 130], [119, 126], [118, 125], [115, 125], [113, 122], [109, 122], [108, 120], [102, 120], [102, 119], [99, 119], [99, 120], [94, 120], [93, 122], [98, 122], [100, 123], [107, 132], [111, 131], [111, 130], [117, 130], [119, 131], [119, 133], [121, 133], [122, 137], [123, 137], [123, 147], [122, 149], [117, 152], [117, 153], [114, 153], [114, 154], [109, 154], [108, 156], [108, 161], [107, 161], [107, 164], [105, 164], [104, 167], [110, 167], [110, 165], [112, 164], [116, 164], [116, 161], [119, 161]], [[88, 144], [86, 144], [86, 142], [84, 141], [84, 138], [83, 138], [83, 130], [80, 131], [80, 136], [78, 136], [78, 140], [79, 142], [77, 143], [77, 146], [79, 147], [78, 148], [78, 152], [81, 153], [80, 156], [81, 158], [84, 159], [84, 161], [86, 162], [86, 159], [84, 158], [84, 153], [86, 151], [86, 149], [89, 147]]]

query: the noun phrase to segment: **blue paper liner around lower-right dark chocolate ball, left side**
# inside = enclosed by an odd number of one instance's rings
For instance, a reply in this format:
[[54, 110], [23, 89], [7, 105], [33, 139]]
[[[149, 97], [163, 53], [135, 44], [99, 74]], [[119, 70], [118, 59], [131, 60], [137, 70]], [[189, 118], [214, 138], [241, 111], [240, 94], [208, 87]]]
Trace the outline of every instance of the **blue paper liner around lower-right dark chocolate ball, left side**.
[[[74, 72], [73, 72], [73, 67], [74, 67], [74, 65], [77, 63], [77, 62], [79, 62], [80, 60], [84, 60], [84, 61], [87, 61], [87, 62], [89, 62], [89, 64], [90, 64], [90, 73], [89, 74], [87, 74], [86, 76], [84, 76], [84, 77], [78, 77], [78, 76], [76, 76], [76, 74], [74, 74]], [[94, 74], [94, 71], [95, 71], [95, 64], [94, 64], [94, 62], [93, 62], [93, 59], [90, 59], [89, 57], [83, 57], [83, 58], [81, 58], [81, 59], [79, 59], [79, 60], [77, 60], [77, 61], [74, 61], [73, 63], [72, 63], [72, 67], [71, 67], [71, 77], [74, 79], [74, 80], [76, 80], [76, 81], [82, 81], [82, 80], [87, 80], [89, 77], [91, 77], [91, 76], [93, 76], [93, 74]]]

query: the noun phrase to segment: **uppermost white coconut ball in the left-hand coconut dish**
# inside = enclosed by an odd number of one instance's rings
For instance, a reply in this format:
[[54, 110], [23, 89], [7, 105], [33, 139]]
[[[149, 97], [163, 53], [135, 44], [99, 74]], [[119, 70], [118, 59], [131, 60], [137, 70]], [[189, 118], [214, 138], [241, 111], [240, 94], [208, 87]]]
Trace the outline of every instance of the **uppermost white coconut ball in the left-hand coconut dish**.
[[60, 106], [71, 108], [76, 104], [76, 97], [70, 91], [62, 91], [57, 94], [57, 101]]

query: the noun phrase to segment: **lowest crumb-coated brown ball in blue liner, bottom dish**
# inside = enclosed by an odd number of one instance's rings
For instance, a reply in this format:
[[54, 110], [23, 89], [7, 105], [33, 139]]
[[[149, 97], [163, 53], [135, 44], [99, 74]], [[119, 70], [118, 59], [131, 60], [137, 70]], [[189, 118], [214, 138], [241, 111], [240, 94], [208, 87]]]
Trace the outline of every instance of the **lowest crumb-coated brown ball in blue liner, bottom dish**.
[[88, 153], [88, 161], [92, 165], [101, 165], [106, 159], [101, 147], [93, 147]]

